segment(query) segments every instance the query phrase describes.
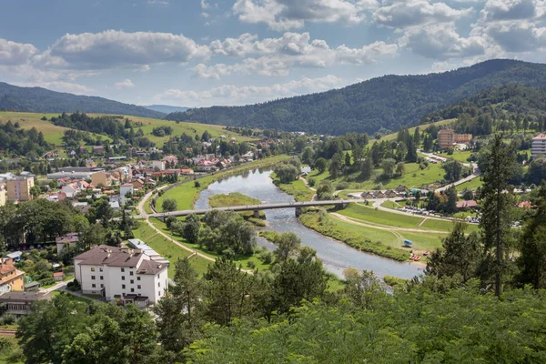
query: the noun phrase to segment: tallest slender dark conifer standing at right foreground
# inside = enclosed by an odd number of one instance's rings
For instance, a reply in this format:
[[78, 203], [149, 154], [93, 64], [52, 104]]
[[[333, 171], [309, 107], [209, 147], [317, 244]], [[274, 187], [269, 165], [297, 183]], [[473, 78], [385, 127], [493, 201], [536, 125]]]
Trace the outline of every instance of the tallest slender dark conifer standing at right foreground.
[[[482, 282], [494, 278], [495, 295], [501, 295], [502, 278], [506, 274], [505, 256], [511, 243], [511, 206], [513, 197], [509, 181], [513, 176], [515, 156], [502, 135], [494, 136], [486, 151], [481, 179], [481, 241], [485, 257], [481, 269]], [[507, 191], [507, 192], [505, 192]]]

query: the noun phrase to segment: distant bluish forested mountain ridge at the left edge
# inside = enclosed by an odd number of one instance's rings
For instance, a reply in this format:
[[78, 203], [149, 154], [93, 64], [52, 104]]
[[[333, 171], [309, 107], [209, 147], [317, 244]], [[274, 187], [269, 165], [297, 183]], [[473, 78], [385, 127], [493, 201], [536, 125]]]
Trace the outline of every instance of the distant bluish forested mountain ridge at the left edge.
[[0, 110], [39, 113], [76, 111], [161, 118], [164, 113], [96, 96], [77, 96], [42, 87], [18, 87], [0, 82]]

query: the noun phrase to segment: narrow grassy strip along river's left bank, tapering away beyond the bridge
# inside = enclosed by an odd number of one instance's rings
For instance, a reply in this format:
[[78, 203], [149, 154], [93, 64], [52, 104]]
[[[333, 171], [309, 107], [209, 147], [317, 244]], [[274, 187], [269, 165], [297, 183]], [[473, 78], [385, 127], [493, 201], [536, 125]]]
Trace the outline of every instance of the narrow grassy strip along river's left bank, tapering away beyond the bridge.
[[190, 181], [188, 183], [182, 184], [175, 188], [171, 188], [166, 193], [164, 193], [161, 197], [157, 198], [157, 201], [156, 201], [157, 211], [159, 212], [163, 211], [161, 204], [166, 198], [174, 198], [177, 201], [178, 209], [190, 209], [193, 207], [193, 204], [197, 200], [197, 197], [199, 197], [199, 192], [201, 192], [203, 189], [206, 189], [209, 184], [216, 182], [217, 180], [220, 180], [224, 177], [237, 175], [248, 169], [274, 166], [281, 160], [284, 160], [287, 158], [288, 156], [269, 157], [266, 159], [259, 159], [254, 162], [246, 163], [238, 167], [230, 168], [225, 171], [218, 172], [215, 175], [200, 178], [199, 179], [200, 187], [195, 187], [194, 183]]

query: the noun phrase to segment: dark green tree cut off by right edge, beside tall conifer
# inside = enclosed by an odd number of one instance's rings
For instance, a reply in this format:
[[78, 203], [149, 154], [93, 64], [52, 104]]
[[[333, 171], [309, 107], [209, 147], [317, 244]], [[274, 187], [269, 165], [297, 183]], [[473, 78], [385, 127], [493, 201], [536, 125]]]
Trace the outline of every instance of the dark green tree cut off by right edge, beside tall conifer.
[[521, 268], [517, 282], [533, 288], [546, 288], [546, 182], [542, 181], [537, 197], [533, 198], [531, 217], [520, 238]]

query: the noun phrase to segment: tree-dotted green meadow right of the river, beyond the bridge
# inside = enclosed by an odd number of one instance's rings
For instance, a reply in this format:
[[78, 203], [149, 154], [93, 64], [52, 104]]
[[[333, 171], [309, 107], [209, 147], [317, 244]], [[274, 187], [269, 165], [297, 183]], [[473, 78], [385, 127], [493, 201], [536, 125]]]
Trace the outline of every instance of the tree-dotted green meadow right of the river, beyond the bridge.
[[[382, 170], [380, 168], [375, 169], [375, 174], [380, 175]], [[401, 177], [394, 177], [388, 180], [374, 181], [372, 179], [365, 182], [350, 182], [349, 189], [364, 191], [372, 189], [388, 189], [395, 188], [399, 185], [406, 187], [424, 187], [431, 183], [438, 182], [443, 179], [445, 171], [440, 165], [430, 164], [425, 169], [420, 169], [417, 163], [406, 163], [406, 171]], [[309, 174], [309, 177], [315, 178], [317, 181], [315, 186], [318, 187], [321, 182], [331, 182], [336, 187], [339, 182], [344, 182], [346, 177], [331, 178], [328, 171], [319, 173], [318, 170], [314, 170]], [[379, 185], [380, 182], [380, 185]]]

